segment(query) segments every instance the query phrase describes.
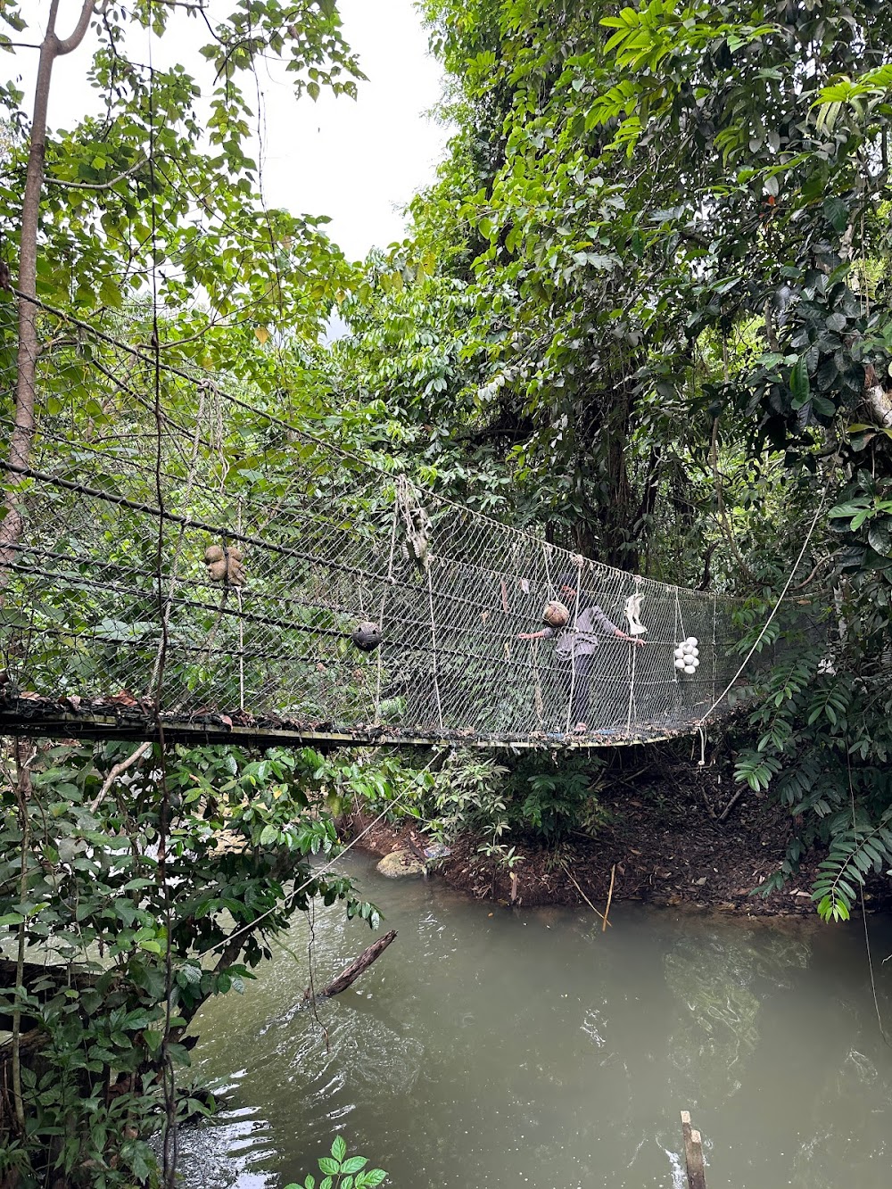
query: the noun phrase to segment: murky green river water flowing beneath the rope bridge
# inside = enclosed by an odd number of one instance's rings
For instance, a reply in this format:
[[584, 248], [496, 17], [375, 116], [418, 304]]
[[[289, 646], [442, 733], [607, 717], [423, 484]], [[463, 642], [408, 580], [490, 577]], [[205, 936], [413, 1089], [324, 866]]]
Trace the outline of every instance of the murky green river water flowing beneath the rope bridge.
[[[319, 1020], [308, 923], [199, 1020], [218, 1120], [182, 1135], [189, 1189], [281, 1189], [334, 1134], [401, 1189], [680, 1189], [678, 1112], [709, 1189], [888, 1189], [892, 1049], [860, 923], [492, 910], [344, 862], [398, 937]], [[892, 1030], [892, 923], [872, 920]], [[315, 920], [323, 984], [372, 936]]]

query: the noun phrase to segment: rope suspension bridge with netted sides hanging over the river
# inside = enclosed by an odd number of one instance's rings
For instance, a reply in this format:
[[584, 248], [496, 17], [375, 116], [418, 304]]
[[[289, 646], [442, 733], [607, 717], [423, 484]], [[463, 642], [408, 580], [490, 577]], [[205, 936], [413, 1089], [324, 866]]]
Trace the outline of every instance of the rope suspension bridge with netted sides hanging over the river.
[[[145, 326], [40, 321], [37, 430], [5, 464], [0, 732], [605, 746], [690, 734], [733, 681], [733, 600], [373, 467], [281, 394], [158, 363]], [[571, 634], [519, 638], [555, 598]]]

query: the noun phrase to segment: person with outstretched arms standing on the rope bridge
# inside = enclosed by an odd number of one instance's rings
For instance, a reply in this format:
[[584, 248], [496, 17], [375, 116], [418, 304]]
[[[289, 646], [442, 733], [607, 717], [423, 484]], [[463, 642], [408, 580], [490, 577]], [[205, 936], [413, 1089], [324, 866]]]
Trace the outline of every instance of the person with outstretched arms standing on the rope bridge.
[[643, 640], [627, 635], [604, 615], [588, 591], [580, 590], [574, 574], [558, 579], [558, 598], [570, 610], [570, 622], [565, 628], [542, 628], [540, 631], [521, 631], [519, 640], [548, 640], [558, 637], [554, 652], [558, 674], [564, 694], [570, 699], [570, 718], [576, 719], [574, 731], [589, 730], [591, 715], [591, 679], [595, 671], [601, 636], [615, 636], [630, 644], [643, 644]]

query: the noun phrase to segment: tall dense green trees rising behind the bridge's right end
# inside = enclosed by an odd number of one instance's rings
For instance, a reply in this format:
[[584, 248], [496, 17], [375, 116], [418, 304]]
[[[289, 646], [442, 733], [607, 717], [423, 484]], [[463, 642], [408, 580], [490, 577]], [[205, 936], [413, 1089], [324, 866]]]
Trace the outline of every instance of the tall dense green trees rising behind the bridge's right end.
[[[461, 285], [444, 313], [476, 373], [450, 389], [477, 384], [463, 426], [511, 468], [515, 515], [532, 489], [584, 552], [747, 594], [734, 647], [775, 665], [739, 691], [761, 700], [736, 779], [791, 813], [771, 886], [827, 847], [838, 894], [818, 904], [838, 912], [861, 870], [852, 803], [862, 835], [892, 805], [892, 63], [862, 54], [892, 43], [892, 11], [426, 12], [459, 132], [403, 252], [433, 246]], [[764, 631], [822, 503], [789, 599], [804, 580], [831, 615], [793, 638], [794, 602]], [[551, 779], [507, 812], [547, 823]]]

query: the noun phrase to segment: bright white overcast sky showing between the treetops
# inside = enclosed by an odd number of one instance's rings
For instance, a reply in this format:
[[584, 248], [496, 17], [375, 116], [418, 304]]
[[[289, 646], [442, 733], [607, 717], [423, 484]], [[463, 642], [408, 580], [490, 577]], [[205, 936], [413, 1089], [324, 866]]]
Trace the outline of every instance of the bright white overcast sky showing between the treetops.
[[[80, 0], [62, 0], [59, 36], [71, 31], [80, 7]], [[225, 13], [230, 4], [209, 0], [209, 8], [212, 14]], [[30, 26], [23, 37], [37, 42], [49, 0], [30, 0], [23, 10]], [[270, 206], [295, 214], [329, 215], [328, 234], [348, 257], [359, 259], [372, 246], [384, 247], [403, 238], [398, 208], [433, 180], [448, 132], [426, 115], [440, 96], [442, 76], [439, 63], [427, 52], [426, 33], [412, 0], [339, 0], [339, 10], [344, 34], [369, 81], [359, 83], [356, 102], [325, 92], [316, 103], [307, 96], [297, 102], [284, 71], [274, 76], [262, 67], [258, 127], [264, 149], [263, 187]], [[153, 43], [156, 65], [167, 65], [176, 57], [203, 81], [203, 59], [194, 52], [208, 39], [202, 31], [207, 34], [203, 23], [176, 13], [165, 37]], [[128, 52], [147, 59], [147, 34], [132, 38]], [[95, 109], [96, 93], [86, 83], [89, 55], [84, 42], [75, 54], [57, 59], [51, 126], [70, 127], [76, 118]], [[29, 112], [36, 64], [33, 50], [17, 51], [14, 61], [6, 55], [0, 58], [4, 78], [21, 77]], [[245, 76], [243, 89], [250, 97], [252, 88]]]

